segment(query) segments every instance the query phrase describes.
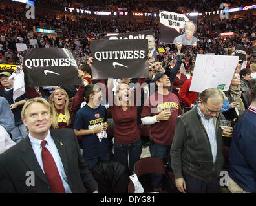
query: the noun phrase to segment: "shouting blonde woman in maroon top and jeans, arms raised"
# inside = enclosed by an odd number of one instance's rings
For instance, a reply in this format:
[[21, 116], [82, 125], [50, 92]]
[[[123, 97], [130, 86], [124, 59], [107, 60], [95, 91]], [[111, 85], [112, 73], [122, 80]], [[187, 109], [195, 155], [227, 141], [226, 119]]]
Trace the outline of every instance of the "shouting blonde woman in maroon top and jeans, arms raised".
[[[147, 55], [147, 58], [151, 59], [151, 55]], [[92, 57], [89, 58], [87, 64], [92, 66]], [[142, 153], [140, 130], [137, 124], [136, 93], [142, 92], [139, 89], [145, 82], [145, 78], [138, 80], [138, 85], [133, 91], [129, 88], [129, 84], [123, 80], [118, 83], [114, 92], [115, 95], [113, 95], [112, 88], [114, 83], [113, 79], [109, 79], [107, 82], [106, 97], [114, 120], [114, 158], [122, 162], [129, 169], [130, 173], [133, 174], [134, 165], [140, 159], [140, 154]], [[105, 84], [103, 80], [98, 80], [98, 82]], [[131, 102], [132, 95], [134, 96], [133, 102]]]

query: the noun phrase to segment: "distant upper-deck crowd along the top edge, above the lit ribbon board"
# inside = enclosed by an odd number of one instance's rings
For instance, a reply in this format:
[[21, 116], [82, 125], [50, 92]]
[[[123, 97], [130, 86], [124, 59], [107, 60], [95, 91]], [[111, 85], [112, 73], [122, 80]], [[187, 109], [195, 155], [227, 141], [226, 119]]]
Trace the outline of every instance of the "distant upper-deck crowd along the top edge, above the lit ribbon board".
[[[248, 6], [253, 4], [253, 0], [247, 1], [229, 1], [230, 8], [238, 6]], [[71, 6], [72, 8], [83, 8], [86, 10], [106, 10], [106, 11], [127, 11], [127, 12], [158, 12], [159, 10], [177, 10], [182, 7], [183, 12], [197, 11], [208, 12], [219, 10], [222, 0], [218, 1], [196, 1], [196, 0], [173, 0], [173, 1], [153, 1], [153, 0], [109, 0], [109, 1], [91, 1], [91, 0], [36, 0], [36, 3], [50, 6]], [[186, 6], [184, 6], [186, 5]]]

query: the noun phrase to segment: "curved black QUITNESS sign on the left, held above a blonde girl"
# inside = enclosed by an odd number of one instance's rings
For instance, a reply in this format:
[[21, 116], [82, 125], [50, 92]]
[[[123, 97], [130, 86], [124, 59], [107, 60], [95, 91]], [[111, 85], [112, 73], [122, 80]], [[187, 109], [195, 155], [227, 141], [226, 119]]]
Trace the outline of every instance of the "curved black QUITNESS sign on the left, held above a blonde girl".
[[65, 48], [30, 48], [23, 68], [26, 87], [81, 84], [76, 55]]

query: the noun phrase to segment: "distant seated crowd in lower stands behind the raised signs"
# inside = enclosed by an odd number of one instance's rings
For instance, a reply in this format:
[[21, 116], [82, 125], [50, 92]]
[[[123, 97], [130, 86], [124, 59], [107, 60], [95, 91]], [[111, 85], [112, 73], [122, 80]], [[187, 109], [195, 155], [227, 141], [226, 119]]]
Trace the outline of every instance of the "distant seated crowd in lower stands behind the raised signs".
[[[35, 28], [50, 28], [61, 30], [57, 37], [38, 35], [32, 33]], [[72, 21], [64, 16], [41, 16], [36, 19], [26, 19], [22, 12], [11, 8], [1, 9], [0, 13], [0, 61], [2, 64], [14, 64], [22, 60], [22, 52], [17, 52], [16, 43], [25, 43], [28, 48], [29, 39], [37, 39], [39, 47], [58, 46], [69, 48], [76, 53], [78, 60], [87, 61], [91, 56], [89, 41], [100, 39], [106, 33], [127, 33], [140, 30], [154, 30], [156, 47], [164, 48], [165, 53], [158, 53], [158, 61], [164, 61], [166, 56], [172, 59], [172, 53], [176, 51], [174, 44], [160, 44], [159, 24], [155, 21], [101, 21], [100, 19], [81, 18], [80, 21]], [[235, 32], [235, 35], [220, 39], [222, 32]], [[182, 52], [185, 59], [195, 56], [197, 53], [215, 53], [217, 55], [231, 55], [235, 50], [235, 44], [244, 44], [247, 48], [248, 63], [255, 57], [255, 17], [246, 16], [243, 19], [221, 19], [219, 21], [198, 21], [197, 47], [184, 46]]]

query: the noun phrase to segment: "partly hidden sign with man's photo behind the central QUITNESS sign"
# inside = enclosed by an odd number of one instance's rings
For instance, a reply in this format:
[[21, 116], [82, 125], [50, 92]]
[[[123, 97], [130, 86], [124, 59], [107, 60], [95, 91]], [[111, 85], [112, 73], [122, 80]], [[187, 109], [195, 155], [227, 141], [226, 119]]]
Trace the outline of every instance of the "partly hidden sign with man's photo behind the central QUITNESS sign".
[[103, 39], [109, 40], [122, 40], [122, 39], [147, 39], [148, 40], [148, 48], [149, 54], [151, 54], [152, 58], [150, 61], [156, 61], [156, 41], [153, 30], [140, 31], [140, 32], [130, 32], [130, 33], [120, 33], [115, 34], [111, 33], [111, 35], [106, 35]]

